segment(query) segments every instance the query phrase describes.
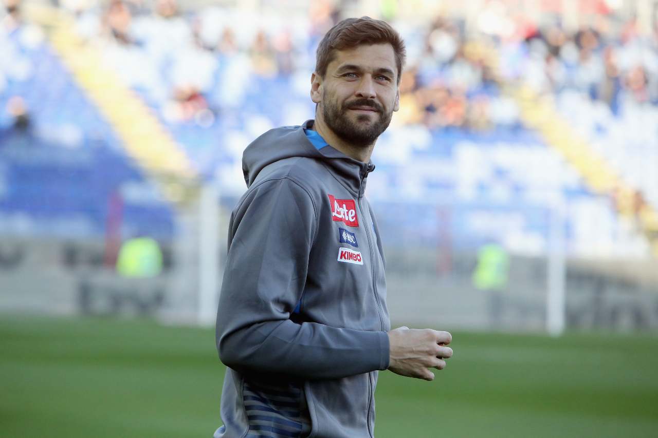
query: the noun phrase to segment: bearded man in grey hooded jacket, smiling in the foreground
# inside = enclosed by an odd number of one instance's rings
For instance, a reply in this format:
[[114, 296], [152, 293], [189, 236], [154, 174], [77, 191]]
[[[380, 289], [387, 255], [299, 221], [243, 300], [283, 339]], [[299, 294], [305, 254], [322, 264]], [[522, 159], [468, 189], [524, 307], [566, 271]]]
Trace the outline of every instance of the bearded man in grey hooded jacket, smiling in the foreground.
[[363, 197], [399, 106], [404, 43], [386, 22], [336, 24], [311, 76], [315, 120], [243, 155], [217, 312], [228, 366], [215, 437], [374, 436], [378, 370], [432, 380], [445, 331], [390, 330], [384, 253]]

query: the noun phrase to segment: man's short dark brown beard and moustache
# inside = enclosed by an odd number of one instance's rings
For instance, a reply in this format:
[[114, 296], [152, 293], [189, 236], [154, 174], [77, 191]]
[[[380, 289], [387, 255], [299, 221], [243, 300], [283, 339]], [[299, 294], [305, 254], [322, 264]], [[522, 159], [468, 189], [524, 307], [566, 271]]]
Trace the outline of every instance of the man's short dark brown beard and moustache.
[[[374, 113], [374, 121], [370, 121], [368, 114], [359, 114], [357, 122], [353, 122], [347, 113], [347, 110], [353, 107], [368, 106], [378, 112]], [[381, 105], [368, 99], [357, 99], [344, 108], [338, 107], [338, 104], [327, 99], [322, 99], [322, 116], [327, 126], [338, 135], [343, 141], [359, 147], [372, 145], [376, 139], [386, 131], [391, 123], [393, 112], [386, 113]]]

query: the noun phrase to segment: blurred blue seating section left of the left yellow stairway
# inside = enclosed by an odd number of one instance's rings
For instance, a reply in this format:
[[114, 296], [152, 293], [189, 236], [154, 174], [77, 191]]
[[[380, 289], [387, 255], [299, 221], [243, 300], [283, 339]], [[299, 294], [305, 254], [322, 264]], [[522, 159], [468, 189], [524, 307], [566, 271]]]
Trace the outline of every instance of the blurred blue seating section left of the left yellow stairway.
[[[0, 229], [10, 235], [128, 234], [167, 239], [173, 212], [126, 157], [114, 127], [64, 68], [40, 28], [3, 21], [0, 51]], [[119, 196], [120, 205], [113, 208]]]

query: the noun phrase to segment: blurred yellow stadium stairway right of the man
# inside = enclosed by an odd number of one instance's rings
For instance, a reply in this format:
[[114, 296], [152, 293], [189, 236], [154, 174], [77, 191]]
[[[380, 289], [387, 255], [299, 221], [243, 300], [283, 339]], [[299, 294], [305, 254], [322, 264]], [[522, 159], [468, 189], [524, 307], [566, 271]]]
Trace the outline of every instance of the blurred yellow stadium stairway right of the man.
[[539, 95], [527, 85], [507, 85], [506, 91], [517, 101], [524, 124], [540, 132], [546, 143], [580, 173], [592, 190], [613, 197], [617, 212], [624, 220], [637, 224], [649, 239], [653, 255], [658, 257], [658, 211], [648, 203], [638, 208], [634, 188], [575, 132], [555, 109], [552, 97]]

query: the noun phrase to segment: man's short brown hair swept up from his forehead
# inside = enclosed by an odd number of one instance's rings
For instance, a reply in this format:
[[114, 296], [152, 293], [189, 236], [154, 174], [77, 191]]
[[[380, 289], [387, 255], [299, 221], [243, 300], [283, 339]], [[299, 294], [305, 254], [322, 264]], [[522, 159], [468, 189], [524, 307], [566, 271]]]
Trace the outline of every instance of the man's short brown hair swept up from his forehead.
[[334, 61], [334, 50], [351, 49], [362, 44], [389, 43], [395, 52], [397, 83], [402, 78], [402, 67], [407, 58], [405, 42], [395, 29], [385, 21], [374, 20], [369, 16], [345, 18], [322, 38], [316, 51], [315, 72], [324, 78], [327, 66]]

